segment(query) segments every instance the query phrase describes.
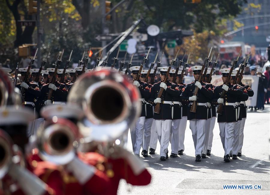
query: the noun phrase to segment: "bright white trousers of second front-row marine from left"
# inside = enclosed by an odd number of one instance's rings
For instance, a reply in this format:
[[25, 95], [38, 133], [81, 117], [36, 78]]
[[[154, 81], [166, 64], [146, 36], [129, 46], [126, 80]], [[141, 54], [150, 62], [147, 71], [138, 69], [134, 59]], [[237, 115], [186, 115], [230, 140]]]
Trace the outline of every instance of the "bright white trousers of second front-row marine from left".
[[158, 139], [160, 140], [160, 156], [166, 157], [170, 142], [172, 120], [155, 120]]

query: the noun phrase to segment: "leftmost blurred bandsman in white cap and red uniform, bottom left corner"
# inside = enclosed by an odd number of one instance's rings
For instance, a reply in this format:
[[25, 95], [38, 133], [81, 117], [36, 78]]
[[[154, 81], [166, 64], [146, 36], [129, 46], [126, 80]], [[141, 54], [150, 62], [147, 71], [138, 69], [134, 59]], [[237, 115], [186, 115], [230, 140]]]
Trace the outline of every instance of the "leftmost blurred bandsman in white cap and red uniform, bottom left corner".
[[[28, 123], [34, 119], [35, 115], [29, 108], [11, 105], [0, 108], [0, 128], [10, 136], [14, 144], [19, 146], [14, 155], [17, 160], [20, 157], [20, 163], [13, 161], [12, 168], [1, 179], [4, 193], [61, 195], [63, 183], [56, 166], [46, 161], [38, 163], [27, 156], [26, 129]], [[25, 168], [20, 164], [25, 164]]]

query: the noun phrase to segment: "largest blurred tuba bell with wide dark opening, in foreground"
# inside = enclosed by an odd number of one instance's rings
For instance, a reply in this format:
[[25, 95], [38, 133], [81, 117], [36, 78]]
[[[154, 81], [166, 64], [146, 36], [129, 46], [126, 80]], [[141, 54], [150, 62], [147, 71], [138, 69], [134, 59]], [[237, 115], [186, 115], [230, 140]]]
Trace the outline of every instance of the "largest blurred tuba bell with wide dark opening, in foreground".
[[77, 103], [85, 118], [79, 123], [84, 143], [127, 139], [128, 129], [141, 112], [140, 93], [118, 72], [101, 69], [83, 74], [71, 88], [67, 101]]

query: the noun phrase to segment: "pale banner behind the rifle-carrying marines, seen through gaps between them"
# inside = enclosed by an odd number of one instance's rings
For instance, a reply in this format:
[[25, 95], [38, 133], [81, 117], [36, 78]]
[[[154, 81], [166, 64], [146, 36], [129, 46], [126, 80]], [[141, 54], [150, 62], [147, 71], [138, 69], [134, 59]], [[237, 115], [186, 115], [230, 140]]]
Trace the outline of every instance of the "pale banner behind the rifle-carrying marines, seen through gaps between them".
[[[193, 76], [185, 76], [184, 83], [188, 84], [194, 81]], [[213, 75], [211, 83], [214, 86], [222, 85], [223, 81], [221, 75]], [[249, 85], [250, 88], [254, 91], [253, 97], [248, 97], [246, 101], [247, 106], [256, 106], [257, 104], [257, 93], [258, 93], [258, 85], [259, 85], [259, 77], [258, 76], [251, 76], [251, 75], [243, 75], [242, 83]]]

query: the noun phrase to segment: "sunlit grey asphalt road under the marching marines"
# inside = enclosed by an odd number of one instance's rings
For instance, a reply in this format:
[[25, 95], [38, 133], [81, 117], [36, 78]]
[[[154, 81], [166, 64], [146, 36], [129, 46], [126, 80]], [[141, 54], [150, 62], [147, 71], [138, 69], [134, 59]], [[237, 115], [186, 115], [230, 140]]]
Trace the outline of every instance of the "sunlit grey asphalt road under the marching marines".
[[[244, 128], [242, 157], [223, 161], [224, 150], [218, 124], [214, 127], [211, 156], [195, 162], [195, 149], [189, 122], [185, 132], [184, 155], [160, 161], [156, 154], [140, 157], [148, 164], [152, 181], [148, 186], [131, 186], [124, 180], [119, 194], [270, 194], [269, 121], [270, 107], [248, 112]], [[128, 150], [132, 151], [129, 135]], [[170, 145], [169, 145], [170, 155]], [[260, 190], [224, 190], [223, 185], [261, 185]]]

